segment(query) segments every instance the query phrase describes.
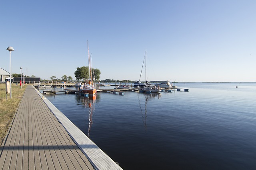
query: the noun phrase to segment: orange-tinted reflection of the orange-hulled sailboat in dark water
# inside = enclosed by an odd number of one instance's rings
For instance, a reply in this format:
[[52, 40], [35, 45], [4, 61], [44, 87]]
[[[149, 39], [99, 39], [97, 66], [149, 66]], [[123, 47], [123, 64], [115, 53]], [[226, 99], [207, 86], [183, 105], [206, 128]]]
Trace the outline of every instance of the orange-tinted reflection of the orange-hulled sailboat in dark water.
[[93, 111], [95, 110], [95, 101], [96, 101], [96, 94], [94, 94], [92, 96], [89, 95], [89, 97], [84, 98], [84, 107], [89, 108], [88, 109], [88, 111], [89, 111], [88, 137], [90, 137], [90, 129], [92, 128], [92, 123], [93, 123], [92, 114], [93, 114]]

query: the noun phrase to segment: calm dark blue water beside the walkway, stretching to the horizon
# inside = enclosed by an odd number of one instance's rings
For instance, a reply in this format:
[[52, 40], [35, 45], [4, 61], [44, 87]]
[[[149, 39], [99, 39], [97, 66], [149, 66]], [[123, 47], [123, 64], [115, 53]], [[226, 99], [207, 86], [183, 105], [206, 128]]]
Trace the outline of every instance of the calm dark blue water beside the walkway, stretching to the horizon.
[[256, 83], [176, 86], [46, 98], [125, 170], [255, 170]]

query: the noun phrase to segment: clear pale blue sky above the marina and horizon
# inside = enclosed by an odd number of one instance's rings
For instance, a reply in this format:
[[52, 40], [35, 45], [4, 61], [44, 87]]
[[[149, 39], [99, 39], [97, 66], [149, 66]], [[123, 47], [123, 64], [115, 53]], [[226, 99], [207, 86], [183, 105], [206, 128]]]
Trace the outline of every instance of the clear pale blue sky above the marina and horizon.
[[[12, 0], [0, 5], [0, 67], [42, 79], [256, 81], [255, 0]], [[145, 69], [142, 73], [145, 80]]]

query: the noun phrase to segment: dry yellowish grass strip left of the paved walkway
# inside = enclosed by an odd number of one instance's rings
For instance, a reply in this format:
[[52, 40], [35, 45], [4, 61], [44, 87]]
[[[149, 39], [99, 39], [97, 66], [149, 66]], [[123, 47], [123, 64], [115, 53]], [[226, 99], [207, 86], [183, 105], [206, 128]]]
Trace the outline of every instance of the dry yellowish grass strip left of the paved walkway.
[[26, 89], [25, 86], [16, 86], [12, 84], [12, 99], [10, 99], [10, 94], [8, 94], [8, 100], [6, 100], [6, 89], [5, 84], [0, 84], [0, 144], [6, 135], [9, 128], [10, 122], [14, 113], [17, 112], [18, 106]]

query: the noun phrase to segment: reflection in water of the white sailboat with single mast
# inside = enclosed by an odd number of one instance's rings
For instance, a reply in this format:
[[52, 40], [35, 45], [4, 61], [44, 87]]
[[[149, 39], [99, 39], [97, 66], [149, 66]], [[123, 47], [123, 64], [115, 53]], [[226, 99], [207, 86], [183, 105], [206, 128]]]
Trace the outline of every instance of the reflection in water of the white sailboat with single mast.
[[143, 105], [141, 103], [144, 104], [144, 100], [143, 99], [140, 99], [140, 93], [138, 93], [138, 101], [139, 101], [139, 105], [140, 105], [140, 113], [142, 115], [142, 121], [143, 121], [143, 124], [144, 124], [144, 127], [145, 127], [145, 131], [147, 131], [147, 123], [146, 123], [146, 119], [147, 119], [147, 103], [150, 99], [153, 99], [153, 98], [158, 98], [160, 99], [161, 98], [161, 93], [154, 93], [154, 94], [143, 94], [145, 96], [145, 107], [144, 107], [144, 110], [143, 110]]

